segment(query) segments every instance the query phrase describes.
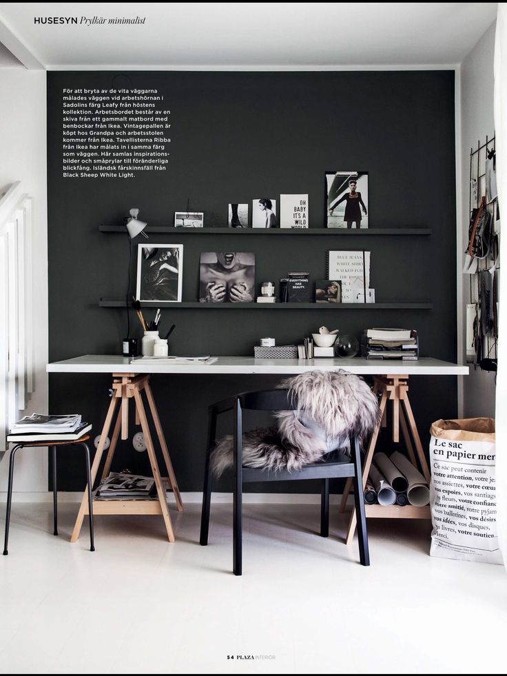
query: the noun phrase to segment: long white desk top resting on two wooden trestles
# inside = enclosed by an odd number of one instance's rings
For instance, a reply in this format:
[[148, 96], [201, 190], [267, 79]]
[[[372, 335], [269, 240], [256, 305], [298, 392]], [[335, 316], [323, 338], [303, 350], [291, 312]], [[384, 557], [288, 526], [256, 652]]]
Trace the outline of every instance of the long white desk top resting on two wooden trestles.
[[217, 357], [209, 364], [143, 364], [130, 363], [130, 357], [110, 354], [85, 354], [72, 359], [48, 364], [48, 373], [304, 373], [320, 369], [336, 371], [345, 369], [358, 375], [406, 376], [466, 376], [468, 366], [443, 362], [431, 357], [417, 361], [401, 359], [373, 360], [362, 357], [351, 359], [256, 359], [255, 357]]

